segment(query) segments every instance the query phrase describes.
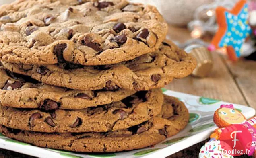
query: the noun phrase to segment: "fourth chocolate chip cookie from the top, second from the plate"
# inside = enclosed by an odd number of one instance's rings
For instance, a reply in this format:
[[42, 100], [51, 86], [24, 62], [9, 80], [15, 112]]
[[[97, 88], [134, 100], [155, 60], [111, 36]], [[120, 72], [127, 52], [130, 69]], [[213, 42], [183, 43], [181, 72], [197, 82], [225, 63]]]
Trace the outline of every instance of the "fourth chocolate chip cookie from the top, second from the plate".
[[0, 124], [46, 133], [117, 131], [155, 117], [161, 112], [162, 104], [161, 89], [154, 89], [109, 105], [79, 110], [62, 110], [58, 105], [52, 110], [49, 105], [32, 110], [0, 106]]

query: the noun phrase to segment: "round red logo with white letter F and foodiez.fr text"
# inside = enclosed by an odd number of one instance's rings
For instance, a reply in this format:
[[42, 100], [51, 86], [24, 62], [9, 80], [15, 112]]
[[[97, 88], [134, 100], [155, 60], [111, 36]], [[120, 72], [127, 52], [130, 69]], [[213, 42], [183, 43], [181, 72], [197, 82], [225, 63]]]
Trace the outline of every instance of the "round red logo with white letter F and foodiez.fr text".
[[221, 132], [220, 143], [222, 154], [241, 156], [252, 151], [252, 134], [243, 125], [233, 124]]

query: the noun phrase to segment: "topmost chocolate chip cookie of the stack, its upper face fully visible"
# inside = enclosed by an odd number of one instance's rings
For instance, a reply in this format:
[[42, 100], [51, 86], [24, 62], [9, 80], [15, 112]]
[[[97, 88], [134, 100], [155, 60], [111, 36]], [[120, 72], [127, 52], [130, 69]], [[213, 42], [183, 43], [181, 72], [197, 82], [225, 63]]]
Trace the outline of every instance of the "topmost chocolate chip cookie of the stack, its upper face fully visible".
[[158, 49], [167, 23], [126, 0], [19, 0], [0, 7], [0, 60], [115, 64]]

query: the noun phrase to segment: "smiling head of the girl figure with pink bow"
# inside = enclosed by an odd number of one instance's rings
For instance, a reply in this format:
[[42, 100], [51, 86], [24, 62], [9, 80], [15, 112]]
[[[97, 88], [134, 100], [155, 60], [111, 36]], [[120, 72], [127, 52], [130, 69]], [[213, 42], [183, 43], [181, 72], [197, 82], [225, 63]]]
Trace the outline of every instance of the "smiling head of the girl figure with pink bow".
[[213, 121], [219, 128], [223, 128], [231, 124], [242, 124], [246, 118], [240, 111], [234, 109], [233, 105], [221, 105], [215, 111]]

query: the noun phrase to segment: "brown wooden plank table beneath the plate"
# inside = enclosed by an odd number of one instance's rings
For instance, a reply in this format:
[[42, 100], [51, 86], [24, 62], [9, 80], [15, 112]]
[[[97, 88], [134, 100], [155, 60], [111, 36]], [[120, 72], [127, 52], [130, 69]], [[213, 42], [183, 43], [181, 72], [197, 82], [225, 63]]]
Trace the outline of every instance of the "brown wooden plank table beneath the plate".
[[[170, 26], [169, 36], [176, 41], [184, 42], [190, 39], [186, 28]], [[256, 108], [256, 62], [239, 60], [236, 63], [213, 53], [214, 68], [207, 78], [187, 78], [174, 80], [166, 88], [178, 92], [220, 99], [230, 103], [237, 103]], [[169, 158], [197, 158], [200, 146], [190, 147]], [[23, 154], [0, 149], [0, 158], [32, 158]], [[242, 157], [241, 157], [242, 158]]]

